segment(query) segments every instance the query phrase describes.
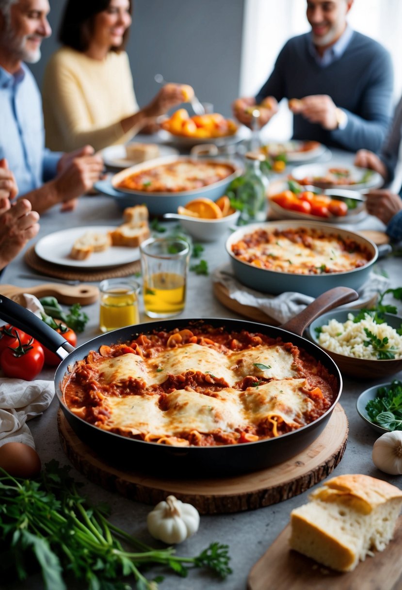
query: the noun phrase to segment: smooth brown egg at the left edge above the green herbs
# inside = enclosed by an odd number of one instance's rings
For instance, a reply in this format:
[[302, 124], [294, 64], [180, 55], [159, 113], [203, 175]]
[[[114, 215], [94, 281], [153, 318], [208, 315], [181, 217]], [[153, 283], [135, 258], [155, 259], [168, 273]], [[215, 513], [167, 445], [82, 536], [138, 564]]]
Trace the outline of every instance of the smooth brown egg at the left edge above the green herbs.
[[0, 447], [0, 467], [13, 477], [28, 479], [41, 470], [41, 460], [34, 448], [23, 442], [5, 442]]

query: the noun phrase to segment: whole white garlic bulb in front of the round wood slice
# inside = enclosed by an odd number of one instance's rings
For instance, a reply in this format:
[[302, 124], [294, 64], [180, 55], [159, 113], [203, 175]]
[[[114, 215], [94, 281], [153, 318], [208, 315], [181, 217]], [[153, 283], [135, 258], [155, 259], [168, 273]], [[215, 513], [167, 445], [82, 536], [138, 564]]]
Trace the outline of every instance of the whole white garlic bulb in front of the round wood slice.
[[197, 532], [200, 515], [192, 504], [184, 504], [174, 496], [167, 496], [148, 514], [150, 534], [164, 543], [182, 543]]

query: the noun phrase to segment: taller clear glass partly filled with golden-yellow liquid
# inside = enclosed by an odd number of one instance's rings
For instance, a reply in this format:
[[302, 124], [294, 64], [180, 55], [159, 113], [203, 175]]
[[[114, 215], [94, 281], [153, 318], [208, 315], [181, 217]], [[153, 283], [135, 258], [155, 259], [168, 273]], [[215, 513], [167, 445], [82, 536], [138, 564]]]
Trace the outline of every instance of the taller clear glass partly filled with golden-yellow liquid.
[[150, 238], [140, 244], [144, 311], [172, 317], [186, 304], [190, 246], [179, 238]]

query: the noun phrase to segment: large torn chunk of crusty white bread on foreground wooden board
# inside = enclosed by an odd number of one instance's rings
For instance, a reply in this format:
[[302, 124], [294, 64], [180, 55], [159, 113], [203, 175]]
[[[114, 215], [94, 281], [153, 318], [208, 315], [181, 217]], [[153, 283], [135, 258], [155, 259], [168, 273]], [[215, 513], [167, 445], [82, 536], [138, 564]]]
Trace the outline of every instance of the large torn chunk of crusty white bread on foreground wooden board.
[[394, 535], [402, 491], [364, 475], [334, 477], [291, 513], [292, 549], [348, 572]]

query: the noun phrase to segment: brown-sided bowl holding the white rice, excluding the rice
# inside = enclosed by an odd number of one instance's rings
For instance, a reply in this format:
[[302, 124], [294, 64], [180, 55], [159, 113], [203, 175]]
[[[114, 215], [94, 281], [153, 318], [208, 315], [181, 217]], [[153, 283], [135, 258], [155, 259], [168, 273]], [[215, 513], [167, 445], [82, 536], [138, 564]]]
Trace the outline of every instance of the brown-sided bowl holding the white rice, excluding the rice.
[[[402, 359], [387, 359], [387, 360], [371, 360], [358, 359], [354, 356], [341, 355], [337, 352], [332, 352], [324, 348], [319, 341], [317, 335], [317, 328], [328, 324], [329, 320], [337, 320], [337, 322], [344, 323], [348, 319], [348, 314], [353, 313], [351, 310], [332, 310], [332, 312], [324, 313], [322, 316], [312, 322], [308, 327], [308, 336], [315, 344], [331, 356], [335, 363], [337, 363], [340, 371], [354, 378], [363, 379], [378, 379], [381, 377], [390, 377], [395, 375], [402, 369]], [[358, 312], [356, 312], [358, 313]], [[384, 314], [385, 322], [388, 326], [398, 329], [402, 324], [402, 317], [394, 316], [390, 313]]]

